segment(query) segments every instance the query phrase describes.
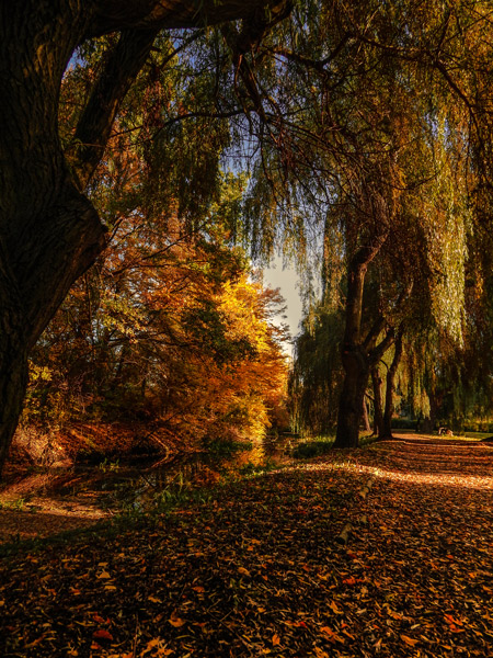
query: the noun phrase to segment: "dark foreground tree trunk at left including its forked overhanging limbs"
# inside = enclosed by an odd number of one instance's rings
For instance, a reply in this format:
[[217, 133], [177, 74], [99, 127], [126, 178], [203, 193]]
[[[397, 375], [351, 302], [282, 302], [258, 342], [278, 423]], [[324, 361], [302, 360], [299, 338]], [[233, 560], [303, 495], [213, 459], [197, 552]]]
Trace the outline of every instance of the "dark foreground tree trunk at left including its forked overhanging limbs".
[[[84, 190], [156, 35], [242, 20], [238, 47], [283, 18], [287, 0], [23, 0], [0, 7], [0, 473], [27, 382], [27, 354], [105, 246]], [[87, 38], [119, 32], [77, 128], [70, 167], [58, 135], [64, 71]]]

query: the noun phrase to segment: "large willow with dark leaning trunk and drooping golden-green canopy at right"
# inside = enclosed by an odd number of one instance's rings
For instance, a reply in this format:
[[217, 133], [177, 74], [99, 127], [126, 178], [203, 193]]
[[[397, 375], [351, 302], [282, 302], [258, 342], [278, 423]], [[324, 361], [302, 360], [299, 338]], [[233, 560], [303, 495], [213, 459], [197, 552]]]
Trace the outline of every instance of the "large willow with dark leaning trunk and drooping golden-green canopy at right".
[[[305, 212], [305, 227], [320, 235], [330, 217], [343, 235], [345, 383], [336, 444], [351, 446], [368, 368], [393, 342], [401, 319], [394, 300], [412, 286], [410, 308], [462, 340], [468, 204], [491, 190], [491, 21], [488, 2], [322, 2], [298, 11], [299, 32], [273, 48], [285, 91], [268, 89], [272, 112], [297, 111], [275, 135], [283, 157], [264, 155], [268, 175], [260, 169], [255, 192], [265, 194], [268, 178], [287, 182], [288, 229]], [[440, 152], [455, 150], [446, 164]], [[480, 190], [470, 185], [473, 167]], [[270, 219], [267, 239], [275, 235]], [[395, 257], [403, 264], [398, 276], [388, 266]], [[393, 286], [398, 294], [383, 299], [387, 313], [377, 313], [368, 328], [365, 281], [382, 263], [400, 291]]]

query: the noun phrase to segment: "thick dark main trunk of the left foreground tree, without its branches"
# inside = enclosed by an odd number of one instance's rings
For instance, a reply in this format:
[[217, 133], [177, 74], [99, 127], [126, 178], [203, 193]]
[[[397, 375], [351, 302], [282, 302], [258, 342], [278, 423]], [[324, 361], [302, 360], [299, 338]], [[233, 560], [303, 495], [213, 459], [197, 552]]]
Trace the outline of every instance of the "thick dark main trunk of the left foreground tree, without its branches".
[[58, 138], [61, 77], [84, 19], [68, 2], [65, 11], [8, 4], [0, 10], [0, 473], [22, 409], [28, 350], [105, 243]]

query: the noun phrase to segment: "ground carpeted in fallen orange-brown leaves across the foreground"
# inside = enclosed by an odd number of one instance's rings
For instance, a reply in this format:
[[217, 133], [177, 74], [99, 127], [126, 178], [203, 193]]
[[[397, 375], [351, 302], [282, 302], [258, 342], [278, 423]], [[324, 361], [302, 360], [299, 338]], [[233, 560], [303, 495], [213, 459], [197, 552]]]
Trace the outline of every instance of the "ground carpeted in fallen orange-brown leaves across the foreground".
[[486, 444], [334, 452], [3, 558], [0, 655], [493, 656], [492, 521]]

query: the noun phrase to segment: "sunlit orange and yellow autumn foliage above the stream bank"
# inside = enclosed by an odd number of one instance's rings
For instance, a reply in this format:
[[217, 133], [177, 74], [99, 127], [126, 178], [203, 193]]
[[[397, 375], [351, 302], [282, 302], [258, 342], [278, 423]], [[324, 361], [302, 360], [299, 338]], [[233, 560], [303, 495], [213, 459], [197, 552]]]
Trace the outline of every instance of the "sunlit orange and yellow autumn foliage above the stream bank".
[[131, 215], [37, 347], [26, 419], [146, 420], [188, 443], [261, 436], [286, 418], [280, 304], [218, 231]]

